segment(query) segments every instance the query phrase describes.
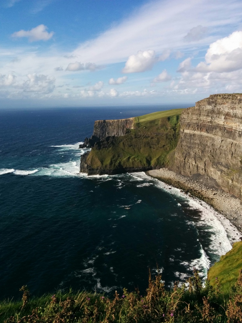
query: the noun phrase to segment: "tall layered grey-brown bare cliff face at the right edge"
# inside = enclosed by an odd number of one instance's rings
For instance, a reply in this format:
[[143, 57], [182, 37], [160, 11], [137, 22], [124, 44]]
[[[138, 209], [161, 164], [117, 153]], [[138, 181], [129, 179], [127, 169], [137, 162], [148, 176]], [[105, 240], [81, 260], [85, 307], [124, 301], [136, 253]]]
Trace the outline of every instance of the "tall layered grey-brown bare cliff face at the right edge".
[[185, 109], [169, 168], [241, 198], [242, 94], [214, 94]]

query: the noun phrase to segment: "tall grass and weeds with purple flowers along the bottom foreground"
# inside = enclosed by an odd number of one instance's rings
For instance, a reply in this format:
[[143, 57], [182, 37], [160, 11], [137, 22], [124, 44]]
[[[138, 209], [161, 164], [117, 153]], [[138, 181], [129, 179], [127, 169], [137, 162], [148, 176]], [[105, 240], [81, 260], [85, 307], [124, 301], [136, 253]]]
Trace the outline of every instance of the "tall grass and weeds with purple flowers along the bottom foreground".
[[23, 286], [22, 301], [0, 303], [0, 322], [242, 322], [242, 271], [229, 295], [221, 291], [218, 280], [215, 287], [208, 281], [203, 286], [196, 269], [187, 283], [188, 288], [175, 282], [166, 290], [160, 274], [155, 279], [149, 275], [146, 295], [124, 289], [112, 299], [72, 291], [30, 298]]

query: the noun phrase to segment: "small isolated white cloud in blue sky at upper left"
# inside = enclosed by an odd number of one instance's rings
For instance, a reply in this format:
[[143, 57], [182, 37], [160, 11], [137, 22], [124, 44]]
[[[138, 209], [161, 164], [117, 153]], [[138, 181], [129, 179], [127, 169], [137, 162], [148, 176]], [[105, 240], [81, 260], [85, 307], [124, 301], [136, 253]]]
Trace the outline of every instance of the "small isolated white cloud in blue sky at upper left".
[[39, 25], [31, 30], [20, 30], [13, 33], [11, 36], [16, 38], [27, 37], [30, 42], [37, 40], [49, 40], [54, 32], [48, 33], [46, 31], [48, 29], [45, 25]]

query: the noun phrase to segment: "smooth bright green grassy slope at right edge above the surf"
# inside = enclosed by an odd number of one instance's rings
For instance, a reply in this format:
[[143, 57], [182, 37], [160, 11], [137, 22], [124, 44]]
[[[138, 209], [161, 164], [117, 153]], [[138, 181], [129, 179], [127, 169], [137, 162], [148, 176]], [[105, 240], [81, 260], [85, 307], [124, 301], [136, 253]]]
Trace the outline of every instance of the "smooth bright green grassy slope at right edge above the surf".
[[233, 248], [212, 266], [207, 278], [212, 286], [218, 278], [224, 292], [229, 292], [230, 287], [237, 281], [239, 270], [242, 268], [242, 241], [235, 242]]

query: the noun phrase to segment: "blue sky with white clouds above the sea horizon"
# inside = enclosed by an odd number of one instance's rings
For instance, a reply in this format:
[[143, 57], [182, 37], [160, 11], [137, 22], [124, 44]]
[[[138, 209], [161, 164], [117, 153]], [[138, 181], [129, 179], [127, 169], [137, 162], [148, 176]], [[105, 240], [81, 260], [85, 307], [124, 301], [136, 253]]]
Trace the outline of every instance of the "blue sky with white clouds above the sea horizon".
[[241, 0], [0, 0], [0, 108], [242, 92]]

